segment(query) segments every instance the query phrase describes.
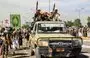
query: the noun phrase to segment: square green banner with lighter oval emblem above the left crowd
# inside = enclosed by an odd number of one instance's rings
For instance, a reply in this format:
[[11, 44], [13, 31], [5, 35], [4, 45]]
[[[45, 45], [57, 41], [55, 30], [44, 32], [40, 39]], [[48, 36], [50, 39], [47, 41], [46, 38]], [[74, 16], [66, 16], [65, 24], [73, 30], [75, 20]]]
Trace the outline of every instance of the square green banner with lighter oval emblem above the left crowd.
[[19, 14], [11, 14], [10, 15], [10, 24], [14, 28], [21, 27], [21, 18]]

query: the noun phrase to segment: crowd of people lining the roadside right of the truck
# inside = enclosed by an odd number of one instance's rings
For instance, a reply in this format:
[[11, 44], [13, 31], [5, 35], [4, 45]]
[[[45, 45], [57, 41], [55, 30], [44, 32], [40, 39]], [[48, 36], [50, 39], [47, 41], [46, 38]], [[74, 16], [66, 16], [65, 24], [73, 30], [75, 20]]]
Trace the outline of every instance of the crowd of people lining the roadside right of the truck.
[[82, 28], [68, 28], [67, 33], [76, 36], [76, 37], [90, 37], [90, 28], [82, 27]]

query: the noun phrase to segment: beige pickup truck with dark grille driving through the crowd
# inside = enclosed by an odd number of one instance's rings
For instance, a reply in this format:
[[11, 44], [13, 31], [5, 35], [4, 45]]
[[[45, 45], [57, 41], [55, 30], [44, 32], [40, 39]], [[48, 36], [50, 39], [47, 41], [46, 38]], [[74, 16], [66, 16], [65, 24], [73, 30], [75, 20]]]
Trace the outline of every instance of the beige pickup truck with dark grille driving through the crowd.
[[38, 21], [31, 36], [31, 55], [36, 58], [78, 56], [82, 49], [82, 39], [65, 33], [64, 22]]

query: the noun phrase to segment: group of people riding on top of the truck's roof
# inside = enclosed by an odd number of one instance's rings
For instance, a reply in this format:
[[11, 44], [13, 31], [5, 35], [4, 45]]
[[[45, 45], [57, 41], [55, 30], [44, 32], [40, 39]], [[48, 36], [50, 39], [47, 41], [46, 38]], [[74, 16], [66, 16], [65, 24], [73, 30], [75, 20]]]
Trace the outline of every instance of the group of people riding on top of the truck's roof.
[[34, 15], [34, 21], [60, 21], [60, 14], [58, 9], [52, 12], [43, 12], [42, 10], [37, 10]]

